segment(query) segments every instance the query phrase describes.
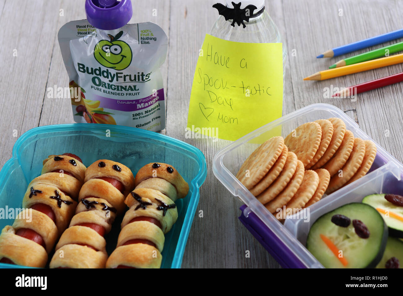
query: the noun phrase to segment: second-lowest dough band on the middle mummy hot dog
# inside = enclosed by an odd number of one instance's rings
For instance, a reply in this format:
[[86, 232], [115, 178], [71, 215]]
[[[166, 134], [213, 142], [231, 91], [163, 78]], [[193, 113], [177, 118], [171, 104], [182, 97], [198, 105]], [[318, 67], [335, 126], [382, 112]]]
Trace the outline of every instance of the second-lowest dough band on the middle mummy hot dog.
[[104, 237], [87, 226], [71, 226], [64, 230], [56, 245], [56, 250], [66, 244], [87, 244], [99, 251], [106, 251]]

